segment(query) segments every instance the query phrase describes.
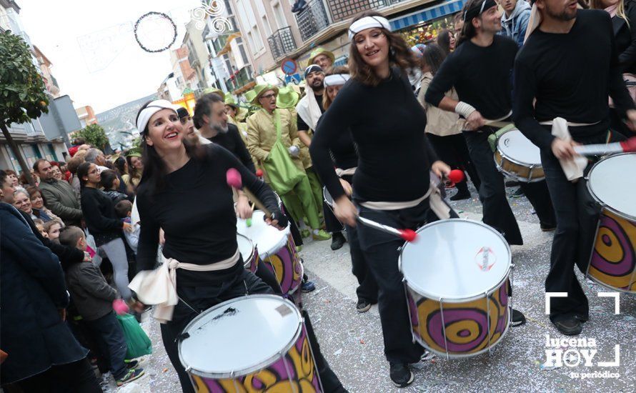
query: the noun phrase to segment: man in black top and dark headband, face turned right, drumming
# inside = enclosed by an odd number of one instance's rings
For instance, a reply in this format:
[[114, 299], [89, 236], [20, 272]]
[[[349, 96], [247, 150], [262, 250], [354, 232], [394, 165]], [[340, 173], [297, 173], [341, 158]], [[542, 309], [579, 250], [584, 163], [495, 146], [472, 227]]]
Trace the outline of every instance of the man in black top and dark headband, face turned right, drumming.
[[[426, 101], [466, 118], [464, 136], [477, 173], [482, 179], [480, 200], [483, 221], [501, 232], [510, 244], [522, 244], [517, 220], [506, 198], [504, 179], [497, 171], [488, 136], [497, 129], [490, 121], [508, 119], [512, 113], [510, 76], [517, 54], [517, 44], [497, 35], [501, 31], [500, 12], [494, 0], [472, 0], [464, 6], [464, 27], [460, 45], [435, 74]], [[444, 94], [452, 87], [459, 101]], [[523, 183], [522, 189], [544, 231], [556, 227], [555, 213], [545, 181]]]

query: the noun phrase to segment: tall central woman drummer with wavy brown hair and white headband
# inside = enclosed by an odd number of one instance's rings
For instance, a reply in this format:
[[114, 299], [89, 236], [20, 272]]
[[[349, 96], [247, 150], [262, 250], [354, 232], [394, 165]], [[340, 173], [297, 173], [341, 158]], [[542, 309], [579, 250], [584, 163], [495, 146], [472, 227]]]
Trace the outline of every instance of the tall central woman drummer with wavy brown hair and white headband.
[[[356, 217], [392, 227], [417, 229], [437, 219], [432, 208], [443, 204], [432, 191], [429, 172], [450, 169], [424, 138], [426, 114], [413, 94], [405, 69], [417, 66], [404, 40], [391, 32], [377, 12], [357, 16], [349, 26], [352, 79], [339, 91], [317, 127], [309, 150], [314, 168], [332, 194], [334, 213], [355, 226]], [[394, 68], [392, 68], [394, 66]], [[329, 157], [338, 136], [349, 132], [357, 146], [358, 166], [352, 198], [345, 194]], [[444, 217], [452, 211], [444, 205]], [[412, 383], [409, 363], [419, 362], [423, 349], [412, 342], [402, 274], [397, 266], [402, 240], [375, 229], [357, 227], [359, 242], [379, 287], [379, 314], [384, 354], [390, 377], [398, 387]]]

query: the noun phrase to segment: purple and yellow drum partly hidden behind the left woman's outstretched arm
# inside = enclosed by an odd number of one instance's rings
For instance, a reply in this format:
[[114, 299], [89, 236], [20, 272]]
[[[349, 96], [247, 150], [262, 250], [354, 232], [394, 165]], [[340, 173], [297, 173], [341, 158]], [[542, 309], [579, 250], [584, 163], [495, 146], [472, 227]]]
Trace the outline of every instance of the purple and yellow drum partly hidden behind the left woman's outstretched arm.
[[264, 213], [254, 211], [252, 227], [247, 227], [244, 219], [237, 219], [237, 232], [254, 242], [259, 252], [259, 263], [276, 274], [284, 294], [293, 294], [302, 281], [302, 264], [296, 246], [289, 232], [289, 225], [283, 231], [270, 227], [264, 222]]

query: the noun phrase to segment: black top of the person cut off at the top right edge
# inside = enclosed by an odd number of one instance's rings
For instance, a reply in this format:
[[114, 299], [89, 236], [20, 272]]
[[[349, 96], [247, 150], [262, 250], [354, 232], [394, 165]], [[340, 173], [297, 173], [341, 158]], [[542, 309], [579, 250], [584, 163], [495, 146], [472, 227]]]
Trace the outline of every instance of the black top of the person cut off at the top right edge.
[[625, 16], [629, 24], [620, 16], [612, 18], [618, 62], [622, 72], [636, 74], [636, 2], [634, 0], [625, 1]]

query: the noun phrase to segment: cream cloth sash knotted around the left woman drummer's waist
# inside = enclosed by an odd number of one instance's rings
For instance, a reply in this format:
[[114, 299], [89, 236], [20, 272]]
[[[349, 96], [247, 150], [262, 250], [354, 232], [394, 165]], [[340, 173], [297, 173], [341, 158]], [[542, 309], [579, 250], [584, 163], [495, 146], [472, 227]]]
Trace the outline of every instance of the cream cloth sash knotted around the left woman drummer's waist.
[[[237, 248], [232, 257], [214, 264], [184, 264], [177, 259], [166, 259], [162, 254], [162, 266], [154, 270], [142, 270], [132, 279], [129, 288], [144, 304], [153, 304], [154, 318], [161, 323], [172, 320], [174, 306], [179, 302], [177, 296], [177, 269], [186, 269], [192, 272], [214, 272], [229, 269], [241, 259], [241, 253]], [[192, 308], [192, 307], [191, 307]]]

